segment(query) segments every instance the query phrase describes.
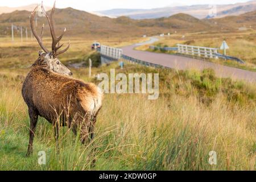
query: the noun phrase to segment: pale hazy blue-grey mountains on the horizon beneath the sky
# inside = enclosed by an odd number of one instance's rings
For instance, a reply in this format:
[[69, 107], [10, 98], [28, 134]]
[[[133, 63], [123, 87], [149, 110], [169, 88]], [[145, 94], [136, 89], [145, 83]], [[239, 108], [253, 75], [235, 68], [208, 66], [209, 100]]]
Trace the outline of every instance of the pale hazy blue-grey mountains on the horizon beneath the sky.
[[[98, 11], [98, 13], [111, 16], [129, 16], [133, 19], [152, 19], [169, 17], [178, 13], [185, 13], [199, 19], [211, 17], [209, 12], [213, 6], [209, 5], [193, 5], [193, 6], [175, 6], [163, 7], [150, 10], [136, 10], [136, 9], [113, 9], [106, 11]], [[245, 3], [236, 3], [230, 5], [216, 5], [217, 17], [228, 15], [240, 15], [249, 11], [256, 10], [256, 0]]]

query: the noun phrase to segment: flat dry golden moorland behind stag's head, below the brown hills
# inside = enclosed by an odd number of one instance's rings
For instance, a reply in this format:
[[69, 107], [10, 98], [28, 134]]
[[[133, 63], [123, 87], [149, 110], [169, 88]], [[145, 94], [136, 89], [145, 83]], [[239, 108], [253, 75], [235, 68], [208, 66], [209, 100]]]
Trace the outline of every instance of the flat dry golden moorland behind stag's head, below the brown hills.
[[[60, 60], [63, 63], [81, 59], [86, 55], [89, 55], [93, 51], [91, 45], [94, 41], [100, 42], [102, 45], [108, 45], [113, 47], [122, 47], [130, 44], [137, 43], [138, 41], [147, 40], [147, 38], [101, 38], [98, 39], [84, 39], [72, 38], [71, 47], [65, 55], [60, 55]], [[63, 40], [63, 43], [68, 43], [67, 39]], [[47, 47], [51, 47], [51, 38], [44, 38], [44, 44]], [[23, 43], [12, 43], [10, 38], [0, 38], [0, 69], [19, 69], [28, 68], [34, 63], [38, 56], [39, 47], [36, 40], [28, 40]]]

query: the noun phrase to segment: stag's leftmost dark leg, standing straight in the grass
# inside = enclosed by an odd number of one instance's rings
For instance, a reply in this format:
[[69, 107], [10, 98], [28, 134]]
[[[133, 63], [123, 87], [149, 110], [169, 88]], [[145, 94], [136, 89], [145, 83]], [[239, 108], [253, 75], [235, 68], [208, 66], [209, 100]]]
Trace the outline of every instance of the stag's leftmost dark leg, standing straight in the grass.
[[30, 115], [30, 140], [27, 149], [27, 156], [30, 156], [33, 152], [33, 140], [35, 136], [36, 124], [38, 123], [38, 112], [34, 109], [28, 109]]

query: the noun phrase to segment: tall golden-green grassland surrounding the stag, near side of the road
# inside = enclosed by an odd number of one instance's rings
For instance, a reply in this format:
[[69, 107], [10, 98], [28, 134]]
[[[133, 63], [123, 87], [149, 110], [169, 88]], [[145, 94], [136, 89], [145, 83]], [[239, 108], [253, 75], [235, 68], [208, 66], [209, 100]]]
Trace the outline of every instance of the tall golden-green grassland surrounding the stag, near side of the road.
[[[121, 46], [138, 40], [102, 40]], [[84, 59], [92, 41], [72, 40], [61, 56], [65, 64]], [[32, 48], [32, 49], [31, 49]], [[28, 66], [37, 57], [35, 44], [0, 43], [0, 170], [255, 170], [256, 85], [216, 78], [211, 70], [177, 72], [118, 63], [92, 69], [92, 75], [115, 71], [160, 73], [160, 97], [105, 94], [96, 136], [88, 146], [61, 129], [56, 155], [52, 126], [39, 119], [34, 155], [26, 157], [29, 117], [21, 96]], [[11, 50], [11, 51], [10, 51]], [[71, 68], [75, 78], [88, 78], [87, 68]], [[46, 152], [46, 165], [38, 152]], [[208, 163], [217, 152], [217, 165]], [[92, 156], [97, 159], [91, 167]]]

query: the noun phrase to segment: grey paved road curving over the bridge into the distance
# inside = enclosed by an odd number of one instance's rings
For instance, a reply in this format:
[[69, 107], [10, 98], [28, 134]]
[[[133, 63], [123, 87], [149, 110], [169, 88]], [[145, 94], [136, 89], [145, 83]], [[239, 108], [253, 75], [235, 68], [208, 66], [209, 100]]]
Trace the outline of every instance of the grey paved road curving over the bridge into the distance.
[[123, 47], [123, 55], [130, 56], [138, 60], [147, 61], [149, 63], [163, 65], [164, 67], [174, 68], [177, 70], [196, 69], [202, 71], [206, 68], [212, 68], [214, 69], [218, 77], [231, 77], [235, 80], [256, 82], [256, 72], [226, 67], [224, 65], [214, 64], [203, 60], [196, 60], [190, 57], [134, 50], [135, 47], [142, 46], [143, 44], [152, 44], [156, 41], [158, 41], [158, 39], [151, 38], [149, 41], [144, 43]]

